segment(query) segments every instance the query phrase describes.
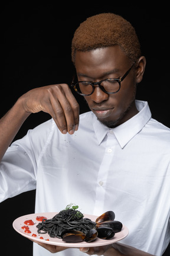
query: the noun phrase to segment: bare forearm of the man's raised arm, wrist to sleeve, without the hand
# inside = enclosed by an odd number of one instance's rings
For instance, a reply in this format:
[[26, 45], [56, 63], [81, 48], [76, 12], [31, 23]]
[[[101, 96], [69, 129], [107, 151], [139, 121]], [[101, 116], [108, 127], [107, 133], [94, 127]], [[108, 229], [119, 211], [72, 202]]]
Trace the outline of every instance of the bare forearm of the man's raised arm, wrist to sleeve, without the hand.
[[21, 100], [18, 100], [0, 120], [0, 161], [15, 135], [17, 135], [18, 130], [30, 114], [22, 107]]

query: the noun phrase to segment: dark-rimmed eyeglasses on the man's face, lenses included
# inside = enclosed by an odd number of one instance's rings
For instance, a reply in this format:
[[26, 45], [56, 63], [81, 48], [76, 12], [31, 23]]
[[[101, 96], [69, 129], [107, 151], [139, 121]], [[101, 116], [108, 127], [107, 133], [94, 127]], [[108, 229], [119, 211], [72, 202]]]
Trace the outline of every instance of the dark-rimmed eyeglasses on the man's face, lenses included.
[[135, 63], [133, 63], [133, 65], [131, 66], [130, 69], [128, 69], [125, 75], [123, 75], [120, 78], [107, 78], [100, 82], [78, 81], [76, 83], [74, 83], [73, 79], [71, 87], [73, 87], [74, 90], [82, 96], [89, 96], [93, 94], [95, 85], [98, 85], [99, 88], [102, 89], [102, 91], [106, 94], [115, 94], [120, 90], [121, 82], [126, 78], [126, 76], [129, 74], [130, 70], [133, 68], [134, 65]]

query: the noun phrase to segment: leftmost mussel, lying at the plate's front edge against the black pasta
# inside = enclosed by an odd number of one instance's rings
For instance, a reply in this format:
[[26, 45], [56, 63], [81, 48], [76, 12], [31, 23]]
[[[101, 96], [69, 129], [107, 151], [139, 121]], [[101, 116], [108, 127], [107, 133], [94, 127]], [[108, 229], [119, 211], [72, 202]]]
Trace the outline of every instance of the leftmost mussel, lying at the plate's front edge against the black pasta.
[[84, 241], [86, 235], [83, 232], [80, 231], [64, 231], [62, 233], [63, 241], [64, 242], [82, 242]]

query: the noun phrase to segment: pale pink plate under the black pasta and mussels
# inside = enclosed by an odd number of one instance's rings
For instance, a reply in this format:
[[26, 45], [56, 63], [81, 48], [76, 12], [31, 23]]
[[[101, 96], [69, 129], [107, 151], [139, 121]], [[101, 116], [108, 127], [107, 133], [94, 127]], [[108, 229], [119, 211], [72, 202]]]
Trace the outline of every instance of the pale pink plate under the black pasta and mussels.
[[[48, 212], [48, 213], [33, 213], [30, 215], [24, 215], [24, 216], [18, 217], [17, 219], [14, 220], [13, 228], [15, 229], [15, 231], [20, 233], [22, 236], [25, 236], [26, 238], [30, 238], [30, 239], [32, 239], [32, 241], [35, 241], [35, 242], [41, 241], [44, 244], [59, 245], [59, 246], [63, 246], [63, 247], [74, 247], [74, 248], [99, 247], [99, 246], [103, 246], [103, 245], [113, 244], [114, 242], [120, 241], [123, 238], [125, 238], [129, 233], [128, 228], [126, 228], [126, 226], [123, 225], [122, 231], [115, 233], [115, 236], [113, 236], [112, 239], [104, 240], [104, 239], [97, 238], [94, 242], [83, 241], [83, 242], [78, 242], [78, 243], [66, 243], [66, 242], [62, 241], [62, 239], [60, 239], [60, 238], [50, 238], [48, 233], [38, 234], [36, 226], [39, 223], [39, 221], [36, 220], [36, 217], [44, 216], [44, 217], [47, 217], [47, 219], [51, 219], [56, 214], [57, 213], [55, 213], [55, 212], [50, 212], [50, 213]], [[85, 215], [85, 214], [84, 214], [84, 217], [87, 217], [94, 222], [97, 218], [97, 216]], [[27, 226], [24, 224], [24, 222], [25, 222], [25, 220], [30, 220], [30, 219], [34, 222], [34, 225], [28, 226], [31, 233], [25, 233], [24, 229], [22, 229], [21, 227]], [[32, 236], [32, 234], [35, 234], [37, 236]], [[40, 237], [42, 237], [43, 239], [40, 239]], [[46, 241], [46, 239], [49, 239], [49, 241]]]

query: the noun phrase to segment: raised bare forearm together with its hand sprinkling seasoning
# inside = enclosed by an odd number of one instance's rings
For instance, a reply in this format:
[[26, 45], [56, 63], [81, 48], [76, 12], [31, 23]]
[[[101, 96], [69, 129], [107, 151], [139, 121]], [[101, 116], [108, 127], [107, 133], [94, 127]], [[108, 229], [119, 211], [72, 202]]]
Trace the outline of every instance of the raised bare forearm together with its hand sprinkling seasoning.
[[40, 111], [50, 114], [64, 134], [73, 135], [78, 129], [79, 104], [67, 84], [32, 89], [0, 120], [0, 161], [25, 119]]

